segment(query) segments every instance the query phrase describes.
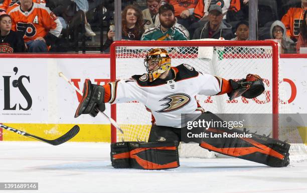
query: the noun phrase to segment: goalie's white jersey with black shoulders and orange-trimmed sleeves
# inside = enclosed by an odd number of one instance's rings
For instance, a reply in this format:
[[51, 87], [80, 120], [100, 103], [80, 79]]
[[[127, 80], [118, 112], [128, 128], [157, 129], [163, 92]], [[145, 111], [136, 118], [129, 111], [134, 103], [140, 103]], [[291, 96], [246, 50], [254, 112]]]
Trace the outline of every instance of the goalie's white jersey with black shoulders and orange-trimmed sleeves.
[[228, 80], [196, 71], [188, 64], [172, 67], [172, 80], [148, 80], [148, 74], [109, 82], [105, 86], [109, 103], [138, 101], [152, 113], [154, 123], [181, 127], [182, 113], [202, 113], [196, 95], [217, 95], [231, 91]]

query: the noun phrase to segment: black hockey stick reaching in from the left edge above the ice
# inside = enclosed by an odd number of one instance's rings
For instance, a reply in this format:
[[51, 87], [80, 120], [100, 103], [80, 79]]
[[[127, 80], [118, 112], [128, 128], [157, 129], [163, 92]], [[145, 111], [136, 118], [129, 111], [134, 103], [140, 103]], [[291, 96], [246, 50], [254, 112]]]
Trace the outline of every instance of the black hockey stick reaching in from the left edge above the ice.
[[33, 134], [27, 133], [27, 132], [22, 131], [22, 130], [18, 130], [16, 128], [12, 128], [10, 126], [6, 126], [4, 124], [0, 124], [0, 128], [4, 128], [6, 130], [10, 130], [10, 131], [13, 131], [15, 133], [18, 133], [18, 134], [21, 134], [21, 135], [24, 135], [24, 136], [28, 136], [28, 137], [34, 138], [36, 140], [40, 140], [40, 141], [52, 144], [52, 145], [59, 145], [59, 144], [62, 144], [64, 142], [68, 141], [69, 139], [74, 137], [80, 130], [79, 126], [75, 125], [68, 132], [63, 134], [62, 136], [60, 136], [56, 139], [53, 139], [53, 140], [49, 140], [49, 139], [45, 139], [45, 138], [42, 138], [42, 137], [39, 137], [39, 136], [35, 136]]

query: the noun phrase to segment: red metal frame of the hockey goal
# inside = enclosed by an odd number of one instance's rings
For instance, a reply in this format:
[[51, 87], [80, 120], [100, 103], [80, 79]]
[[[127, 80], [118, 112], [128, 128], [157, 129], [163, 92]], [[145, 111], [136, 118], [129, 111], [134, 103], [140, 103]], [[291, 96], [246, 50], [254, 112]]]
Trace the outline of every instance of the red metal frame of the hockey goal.
[[[271, 109], [273, 114], [273, 122], [272, 122], [272, 129], [273, 129], [273, 137], [278, 138], [278, 105], [279, 105], [279, 96], [278, 96], [278, 60], [279, 60], [279, 52], [278, 52], [278, 43], [271, 40], [259, 40], [259, 41], [227, 41], [227, 40], [217, 40], [217, 41], [114, 41], [110, 46], [110, 64], [111, 64], [111, 74], [110, 79], [111, 81], [115, 81], [118, 79], [117, 71], [116, 71], [116, 58], [119, 55], [133, 55], [135, 53], [130, 52], [117, 52], [117, 47], [270, 47], [271, 50], [271, 83], [272, 83], [272, 101], [271, 101]], [[184, 54], [184, 53], [183, 53]], [[240, 54], [232, 54], [232, 57], [241, 57]], [[257, 57], [257, 54], [250, 54], [251, 57]], [[249, 58], [247, 57], [247, 58]], [[265, 70], [265, 69], [263, 69]], [[243, 77], [242, 77], [243, 78]], [[117, 119], [117, 112], [116, 112], [116, 104], [111, 105], [111, 117], [116, 120]], [[111, 125], [111, 142], [116, 141], [116, 128]]]

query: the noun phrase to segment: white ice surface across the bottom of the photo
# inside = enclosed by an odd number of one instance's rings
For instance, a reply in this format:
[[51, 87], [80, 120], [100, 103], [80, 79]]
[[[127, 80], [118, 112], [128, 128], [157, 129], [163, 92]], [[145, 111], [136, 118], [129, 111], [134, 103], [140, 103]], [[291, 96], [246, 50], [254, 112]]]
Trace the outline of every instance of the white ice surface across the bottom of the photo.
[[107, 143], [0, 141], [0, 182], [39, 182], [2, 192], [307, 192], [307, 161], [273, 168], [238, 158], [181, 158], [169, 170], [115, 169]]

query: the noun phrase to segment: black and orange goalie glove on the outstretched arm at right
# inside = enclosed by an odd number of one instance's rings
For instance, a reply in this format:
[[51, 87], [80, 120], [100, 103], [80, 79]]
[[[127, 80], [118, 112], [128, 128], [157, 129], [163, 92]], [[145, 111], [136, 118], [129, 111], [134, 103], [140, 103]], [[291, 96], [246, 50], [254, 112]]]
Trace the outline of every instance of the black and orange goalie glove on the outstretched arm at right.
[[262, 94], [264, 91], [264, 84], [260, 76], [256, 74], [247, 74], [246, 78], [240, 80], [229, 79], [232, 86], [232, 91], [227, 93], [229, 100], [238, 96], [245, 98], [254, 98]]

